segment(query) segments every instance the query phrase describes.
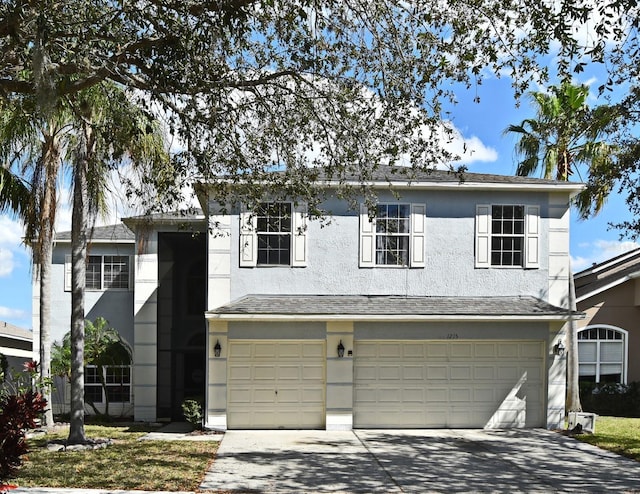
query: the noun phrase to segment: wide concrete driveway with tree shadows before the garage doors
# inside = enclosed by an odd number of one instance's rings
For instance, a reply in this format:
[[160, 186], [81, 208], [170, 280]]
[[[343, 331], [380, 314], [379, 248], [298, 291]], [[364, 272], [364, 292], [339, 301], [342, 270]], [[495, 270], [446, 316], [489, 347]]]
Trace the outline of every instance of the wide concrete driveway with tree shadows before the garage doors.
[[640, 492], [640, 463], [541, 429], [228, 431], [200, 488]]

